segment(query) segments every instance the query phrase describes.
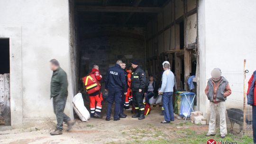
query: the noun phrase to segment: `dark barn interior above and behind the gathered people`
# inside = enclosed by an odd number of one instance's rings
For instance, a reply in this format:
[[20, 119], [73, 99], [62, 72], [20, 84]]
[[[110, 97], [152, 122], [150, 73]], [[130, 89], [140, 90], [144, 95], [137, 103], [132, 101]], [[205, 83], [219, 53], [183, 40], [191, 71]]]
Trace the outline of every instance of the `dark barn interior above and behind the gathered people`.
[[[70, 0], [75, 79], [88, 74], [93, 64], [104, 79], [121, 59], [128, 66], [138, 60], [146, 75], [159, 81], [166, 60], [175, 74], [175, 89], [197, 92], [197, 7], [197, 0]], [[190, 90], [192, 75], [195, 89]]]

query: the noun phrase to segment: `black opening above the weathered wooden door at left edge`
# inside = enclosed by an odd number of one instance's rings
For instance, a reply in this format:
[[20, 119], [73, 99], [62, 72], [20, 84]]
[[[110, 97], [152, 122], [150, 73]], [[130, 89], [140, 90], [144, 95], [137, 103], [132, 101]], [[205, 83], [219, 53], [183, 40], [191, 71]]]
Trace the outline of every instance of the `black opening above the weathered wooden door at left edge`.
[[9, 38], [0, 38], [0, 74], [10, 73]]

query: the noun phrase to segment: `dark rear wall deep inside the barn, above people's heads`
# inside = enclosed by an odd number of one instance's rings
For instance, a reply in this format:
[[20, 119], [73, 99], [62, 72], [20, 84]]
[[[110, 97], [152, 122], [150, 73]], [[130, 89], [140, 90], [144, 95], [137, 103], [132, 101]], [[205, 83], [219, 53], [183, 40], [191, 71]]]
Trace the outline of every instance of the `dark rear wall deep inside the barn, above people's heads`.
[[[140, 62], [140, 65], [144, 67], [144, 27], [135, 27], [130, 29], [128, 27], [104, 27], [102, 30], [98, 28], [87, 27], [81, 33], [102, 33], [107, 32], [108, 36], [97, 36], [83, 39], [80, 42], [81, 48], [81, 76], [85, 76], [91, 71], [93, 64], [99, 64], [101, 75], [104, 77], [108, 68], [116, 63], [118, 59], [121, 59], [127, 63], [127, 66], [131, 65], [131, 61], [136, 59]], [[141, 36], [143, 39], [135, 37], [115, 36], [113, 31], [119, 31], [120, 34], [129, 32]], [[111, 33], [113, 35], [111, 35]], [[88, 34], [84, 34], [88, 35]], [[132, 35], [130, 35], [132, 36]], [[132, 57], [130, 57], [132, 56]], [[103, 82], [103, 81], [102, 81]]]

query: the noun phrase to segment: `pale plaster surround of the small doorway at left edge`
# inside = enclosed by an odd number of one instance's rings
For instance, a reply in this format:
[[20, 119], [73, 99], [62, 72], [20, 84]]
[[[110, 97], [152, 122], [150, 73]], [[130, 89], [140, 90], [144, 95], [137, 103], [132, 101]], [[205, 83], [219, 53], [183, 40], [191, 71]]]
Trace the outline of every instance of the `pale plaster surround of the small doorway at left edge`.
[[9, 38], [11, 126], [22, 126], [22, 27], [0, 27], [0, 38]]

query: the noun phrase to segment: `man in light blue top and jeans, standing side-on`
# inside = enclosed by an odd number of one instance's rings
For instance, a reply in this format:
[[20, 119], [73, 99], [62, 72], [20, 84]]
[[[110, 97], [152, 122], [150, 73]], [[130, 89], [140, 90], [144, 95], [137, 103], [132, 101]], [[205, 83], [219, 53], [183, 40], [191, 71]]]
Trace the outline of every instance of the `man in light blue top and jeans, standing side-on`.
[[173, 107], [173, 93], [174, 93], [174, 73], [170, 70], [170, 64], [163, 63], [165, 72], [162, 76], [161, 90], [159, 94], [163, 93], [162, 103], [164, 107], [165, 120], [161, 123], [167, 124], [174, 121], [174, 107]]

